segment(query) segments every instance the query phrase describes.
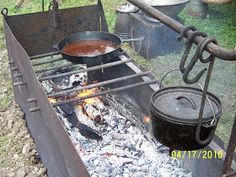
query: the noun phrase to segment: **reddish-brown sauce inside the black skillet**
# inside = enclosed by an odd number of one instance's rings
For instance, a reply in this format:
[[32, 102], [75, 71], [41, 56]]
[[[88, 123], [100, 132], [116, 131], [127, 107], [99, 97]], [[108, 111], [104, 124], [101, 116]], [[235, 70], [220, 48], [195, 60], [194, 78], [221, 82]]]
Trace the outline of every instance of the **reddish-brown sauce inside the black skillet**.
[[118, 46], [106, 40], [84, 40], [78, 41], [63, 47], [65, 54], [73, 56], [94, 57], [115, 50]]

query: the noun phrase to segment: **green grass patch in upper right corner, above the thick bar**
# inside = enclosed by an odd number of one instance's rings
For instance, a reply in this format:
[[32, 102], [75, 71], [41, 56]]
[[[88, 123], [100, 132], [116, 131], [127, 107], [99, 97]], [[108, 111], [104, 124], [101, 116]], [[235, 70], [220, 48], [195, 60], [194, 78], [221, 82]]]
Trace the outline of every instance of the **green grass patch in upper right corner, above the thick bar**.
[[185, 11], [180, 14], [185, 24], [194, 25], [198, 30], [216, 38], [222, 47], [236, 47], [236, 2], [225, 5], [209, 5], [205, 19], [190, 18]]

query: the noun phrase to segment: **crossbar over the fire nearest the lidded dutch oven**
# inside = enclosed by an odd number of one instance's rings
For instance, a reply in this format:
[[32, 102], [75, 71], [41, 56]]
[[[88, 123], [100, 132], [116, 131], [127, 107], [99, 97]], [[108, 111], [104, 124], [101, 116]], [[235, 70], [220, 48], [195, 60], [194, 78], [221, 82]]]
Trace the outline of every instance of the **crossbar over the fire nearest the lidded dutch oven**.
[[134, 87], [140, 87], [142, 85], [154, 84], [154, 83], [157, 83], [157, 82], [158, 82], [158, 80], [152, 80], [152, 81], [139, 82], [139, 83], [136, 83], [136, 84], [130, 84], [130, 85], [126, 85], [126, 86], [122, 86], [122, 87], [117, 87], [117, 88], [110, 89], [110, 90], [105, 90], [105, 91], [102, 91], [102, 92], [99, 92], [99, 93], [83, 96], [83, 97], [76, 98], [76, 99], [70, 99], [70, 100], [61, 101], [61, 102], [52, 104], [52, 106], [55, 107], [55, 106], [60, 106], [60, 105], [68, 104], [68, 103], [72, 103], [72, 102], [80, 102], [80, 101], [88, 99], [88, 98], [102, 96], [102, 95], [106, 95], [108, 93], [118, 92], [118, 91], [122, 91], [122, 90], [127, 90], [127, 89], [131, 89], [131, 88], [134, 88]]

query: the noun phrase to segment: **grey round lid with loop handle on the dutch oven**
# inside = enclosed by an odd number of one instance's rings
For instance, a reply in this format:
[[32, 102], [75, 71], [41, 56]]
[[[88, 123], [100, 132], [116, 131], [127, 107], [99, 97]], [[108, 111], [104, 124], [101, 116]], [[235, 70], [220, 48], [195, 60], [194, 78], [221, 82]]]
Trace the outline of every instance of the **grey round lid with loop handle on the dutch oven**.
[[[220, 100], [208, 92], [202, 122], [209, 122], [221, 114]], [[196, 123], [198, 120], [202, 91], [191, 87], [168, 87], [155, 92], [151, 100], [151, 109], [166, 119]], [[212, 110], [213, 109], [213, 110]]]

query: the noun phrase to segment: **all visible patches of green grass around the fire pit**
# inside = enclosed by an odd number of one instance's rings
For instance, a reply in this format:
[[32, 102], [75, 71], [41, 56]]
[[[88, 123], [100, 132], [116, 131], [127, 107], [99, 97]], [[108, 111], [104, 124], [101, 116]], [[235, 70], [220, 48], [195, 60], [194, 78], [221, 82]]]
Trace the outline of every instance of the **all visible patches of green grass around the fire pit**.
[[[0, 9], [8, 7], [9, 14], [21, 14], [41, 11], [41, 0], [25, 0], [22, 8], [18, 11], [15, 5], [18, 0], [1, 0]], [[49, 5], [49, 0], [45, 0], [45, 9]], [[95, 4], [96, 0], [64, 0], [61, 1], [60, 8], [75, 7], [81, 5]], [[103, 0], [105, 15], [109, 30], [113, 31], [117, 7], [126, 1], [124, 0]], [[220, 46], [227, 49], [236, 48], [236, 1], [226, 5], [209, 5], [209, 14], [205, 19], [191, 18], [186, 14], [186, 11], [181, 12], [180, 17], [185, 21], [185, 24], [191, 24], [198, 28], [198, 30], [206, 32], [209, 36], [215, 37]], [[2, 18], [2, 17], [0, 17]], [[3, 38], [3, 28], [0, 24], [0, 38]], [[0, 45], [0, 49], [3, 45]], [[144, 68], [151, 70], [157, 78], [160, 78], [166, 71], [178, 67], [181, 54], [170, 54], [160, 56], [157, 59], [145, 60], [139, 55], [136, 55], [132, 50], [125, 46], [128, 53], [135, 59], [135, 61]], [[216, 94], [223, 105], [223, 115], [220, 124], [217, 128], [217, 134], [225, 142], [229, 139], [229, 132], [232, 127], [233, 118], [236, 109], [236, 63], [217, 60], [213, 77], [211, 80], [210, 91]], [[1, 80], [0, 80], [1, 81]], [[165, 84], [176, 85], [182, 84], [181, 77], [178, 74], [168, 76]], [[7, 105], [8, 99], [4, 98], [1, 101], [3, 105]]]

